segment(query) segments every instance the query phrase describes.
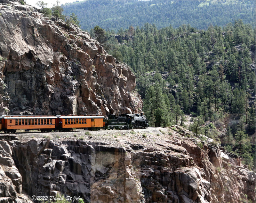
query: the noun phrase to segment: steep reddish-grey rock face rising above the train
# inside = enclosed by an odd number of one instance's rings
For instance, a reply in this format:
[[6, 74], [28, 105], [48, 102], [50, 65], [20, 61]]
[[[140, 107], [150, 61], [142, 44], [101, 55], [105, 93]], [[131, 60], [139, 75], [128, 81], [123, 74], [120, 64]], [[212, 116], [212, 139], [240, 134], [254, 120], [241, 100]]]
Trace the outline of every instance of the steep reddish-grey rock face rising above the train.
[[141, 111], [130, 68], [88, 33], [18, 0], [0, 0], [0, 13], [1, 114]]

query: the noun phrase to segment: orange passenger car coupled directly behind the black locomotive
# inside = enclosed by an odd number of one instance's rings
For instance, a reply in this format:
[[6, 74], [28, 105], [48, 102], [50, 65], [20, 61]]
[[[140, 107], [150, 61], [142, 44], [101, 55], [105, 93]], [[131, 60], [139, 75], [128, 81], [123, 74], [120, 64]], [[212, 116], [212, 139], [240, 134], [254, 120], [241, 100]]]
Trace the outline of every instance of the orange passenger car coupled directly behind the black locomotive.
[[72, 128], [95, 129], [104, 126], [104, 116], [101, 115], [57, 115], [56, 128], [60, 131], [70, 131]]

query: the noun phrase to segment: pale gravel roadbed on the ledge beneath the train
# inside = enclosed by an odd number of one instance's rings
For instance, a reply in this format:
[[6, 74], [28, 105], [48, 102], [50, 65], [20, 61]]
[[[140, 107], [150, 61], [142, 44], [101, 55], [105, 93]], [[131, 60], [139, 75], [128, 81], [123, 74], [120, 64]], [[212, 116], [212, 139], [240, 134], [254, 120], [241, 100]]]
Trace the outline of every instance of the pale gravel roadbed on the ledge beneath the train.
[[[4, 135], [4, 134], [0, 134]], [[17, 132], [17, 141], [26, 141], [31, 139], [51, 139], [53, 141], [69, 141], [81, 140], [89, 142], [97, 142], [98, 144], [108, 145], [113, 147], [130, 147], [131, 144], [143, 146], [143, 148], [163, 149], [170, 145], [174, 137], [179, 136], [175, 130], [170, 127], [148, 127], [143, 129], [124, 129], [124, 130], [72, 130], [70, 132], [47, 132], [40, 131]]]

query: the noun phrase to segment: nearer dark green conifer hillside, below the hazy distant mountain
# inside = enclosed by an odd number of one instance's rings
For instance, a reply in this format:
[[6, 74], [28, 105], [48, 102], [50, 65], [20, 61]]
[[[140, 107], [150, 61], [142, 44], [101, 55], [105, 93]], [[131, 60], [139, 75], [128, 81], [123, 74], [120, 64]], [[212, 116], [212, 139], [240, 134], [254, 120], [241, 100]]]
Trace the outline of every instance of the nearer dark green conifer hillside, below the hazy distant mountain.
[[184, 115], [192, 114], [193, 132], [222, 141], [252, 166], [256, 30], [250, 24], [238, 20], [199, 31], [147, 23], [118, 34], [105, 46], [112, 44], [109, 54], [135, 72], [152, 126], [184, 125]]

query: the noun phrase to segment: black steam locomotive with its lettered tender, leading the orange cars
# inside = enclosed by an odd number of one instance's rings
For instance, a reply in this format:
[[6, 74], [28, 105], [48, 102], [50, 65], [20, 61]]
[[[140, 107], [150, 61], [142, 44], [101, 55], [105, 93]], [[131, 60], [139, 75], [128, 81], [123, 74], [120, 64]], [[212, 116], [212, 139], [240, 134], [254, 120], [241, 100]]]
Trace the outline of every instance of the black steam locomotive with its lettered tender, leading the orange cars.
[[132, 129], [132, 128], [146, 128], [148, 127], [148, 121], [143, 113], [132, 114], [124, 113], [119, 116], [109, 114], [108, 120], [105, 121], [105, 127], [107, 129]]

